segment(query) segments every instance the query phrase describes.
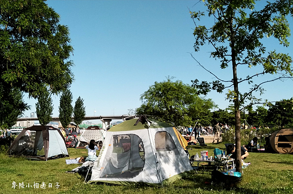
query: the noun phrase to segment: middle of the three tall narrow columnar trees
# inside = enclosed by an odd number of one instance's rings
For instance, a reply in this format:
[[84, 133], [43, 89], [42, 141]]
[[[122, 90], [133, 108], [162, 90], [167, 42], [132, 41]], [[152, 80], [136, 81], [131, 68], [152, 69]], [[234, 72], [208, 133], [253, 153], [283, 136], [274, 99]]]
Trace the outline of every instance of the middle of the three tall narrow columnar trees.
[[60, 97], [59, 106], [59, 119], [63, 127], [67, 127], [71, 122], [71, 116], [73, 112], [72, 103], [72, 93], [69, 89], [63, 91]]

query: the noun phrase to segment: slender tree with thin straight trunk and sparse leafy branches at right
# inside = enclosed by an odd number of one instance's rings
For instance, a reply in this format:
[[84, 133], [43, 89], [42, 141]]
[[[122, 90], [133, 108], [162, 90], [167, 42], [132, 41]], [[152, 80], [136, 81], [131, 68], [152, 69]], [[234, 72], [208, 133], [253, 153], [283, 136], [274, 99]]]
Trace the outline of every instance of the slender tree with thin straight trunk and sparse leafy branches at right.
[[[261, 102], [261, 99], [255, 97], [254, 94], [255, 92], [262, 94], [264, 92], [262, 86], [265, 83], [293, 76], [292, 58], [288, 54], [278, 53], [274, 48], [269, 48], [272, 51], [267, 51], [262, 42], [264, 38], [273, 37], [281, 45], [289, 46], [290, 28], [286, 16], [293, 12], [293, 1], [275, 0], [264, 4], [258, 3], [257, 8], [256, 0], [203, 0], [203, 2], [207, 7], [208, 17], [212, 17], [212, 22], [201, 25], [200, 20], [206, 13], [190, 12], [195, 25], [194, 49], [199, 52], [201, 46], [209, 43], [213, 49], [210, 56], [220, 59], [219, 65], [222, 69], [230, 66], [232, 78], [221, 79], [192, 56], [217, 78], [212, 82], [200, 82], [198, 79], [192, 82], [201, 94], [207, 94], [210, 90], [222, 92], [228, 89], [227, 99], [234, 103], [235, 108], [236, 164], [238, 164], [236, 168], [238, 172], [241, 172], [239, 165], [241, 164], [241, 109]], [[264, 6], [261, 8], [261, 5]], [[239, 65], [247, 65], [249, 68], [259, 66], [262, 70], [240, 78], [237, 74]], [[275, 75], [275, 77], [265, 81], [257, 79], [267, 74]], [[240, 91], [238, 86], [241, 83], [251, 84], [251, 89]]]

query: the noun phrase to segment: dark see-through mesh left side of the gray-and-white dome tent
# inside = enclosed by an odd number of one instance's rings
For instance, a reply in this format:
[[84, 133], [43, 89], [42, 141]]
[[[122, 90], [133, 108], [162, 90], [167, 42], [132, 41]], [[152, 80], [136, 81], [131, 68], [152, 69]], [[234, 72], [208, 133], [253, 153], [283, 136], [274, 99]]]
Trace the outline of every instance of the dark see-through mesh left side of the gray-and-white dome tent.
[[42, 131], [27, 130], [10, 150], [9, 155], [44, 156]]

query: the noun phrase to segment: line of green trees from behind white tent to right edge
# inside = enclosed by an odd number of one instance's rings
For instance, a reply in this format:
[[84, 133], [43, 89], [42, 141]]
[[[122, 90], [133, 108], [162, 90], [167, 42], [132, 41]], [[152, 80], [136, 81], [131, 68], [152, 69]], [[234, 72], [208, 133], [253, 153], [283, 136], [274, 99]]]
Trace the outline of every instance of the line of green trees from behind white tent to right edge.
[[[226, 109], [218, 109], [212, 99], [200, 97], [197, 90], [180, 80], [155, 82], [141, 95], [142, 105], [134, 111], [136, 115], [149, 115], [170, 122], [178, 127], [214, 125], [227, 123], [235, 128], [235, 108], [233, 104]], [[133, 113], [132, 113], [133, 114]], [[252, 106], [240, 112], [241, 123], [249, 127], [293, 127], [293, 98], [283, 99], [264, 106]], [[243, 126], [242, 126], [243, 127]]]

